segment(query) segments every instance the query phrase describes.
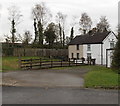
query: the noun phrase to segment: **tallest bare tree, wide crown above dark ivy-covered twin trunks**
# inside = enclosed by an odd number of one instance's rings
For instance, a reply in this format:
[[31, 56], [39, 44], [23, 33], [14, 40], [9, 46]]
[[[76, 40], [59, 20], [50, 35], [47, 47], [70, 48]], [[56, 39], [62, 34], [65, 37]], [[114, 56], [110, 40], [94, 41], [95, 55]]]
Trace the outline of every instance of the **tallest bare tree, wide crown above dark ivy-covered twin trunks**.
[[35, 29], [34, 43], [38, 42], [40, 45], [43, 45], [44, 27], [52, 15], [50, 13], [50, 10], [43, 2], [35, 5], [35, 7], [32, 9], [32, 15], [34, 18]]

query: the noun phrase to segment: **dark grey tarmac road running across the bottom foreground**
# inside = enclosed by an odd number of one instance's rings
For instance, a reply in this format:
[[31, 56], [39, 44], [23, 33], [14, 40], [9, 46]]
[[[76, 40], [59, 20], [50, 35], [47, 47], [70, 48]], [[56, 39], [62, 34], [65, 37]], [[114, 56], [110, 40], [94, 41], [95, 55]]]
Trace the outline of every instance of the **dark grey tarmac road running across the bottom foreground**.
[[117, 90], [3, 87], [3, 104], [118, 104]]

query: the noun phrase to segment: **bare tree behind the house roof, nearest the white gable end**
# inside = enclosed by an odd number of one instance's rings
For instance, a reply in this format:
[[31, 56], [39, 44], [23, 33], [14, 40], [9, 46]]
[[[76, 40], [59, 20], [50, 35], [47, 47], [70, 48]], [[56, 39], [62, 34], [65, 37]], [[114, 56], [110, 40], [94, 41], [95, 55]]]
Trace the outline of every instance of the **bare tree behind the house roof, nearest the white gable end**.
[[101, 16], [100, 17], [100, 22], [97, 24], [97, 30], [99, 32], [103, 32], [105, 30], [109, 30], [109, 23], [108, 23], [108, 19], [106, 18], [106, 16]]

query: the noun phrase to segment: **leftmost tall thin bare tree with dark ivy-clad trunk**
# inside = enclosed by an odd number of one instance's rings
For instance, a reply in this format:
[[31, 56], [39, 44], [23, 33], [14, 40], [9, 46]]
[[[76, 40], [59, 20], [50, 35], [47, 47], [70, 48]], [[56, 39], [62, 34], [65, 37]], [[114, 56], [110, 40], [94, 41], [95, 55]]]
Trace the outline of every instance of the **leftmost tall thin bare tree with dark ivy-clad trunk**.
[[11, 22], [11, 37], [7, 37], [11, 39], [11, 42], [14, 44], [15, 42], [18, 41], [17, 36], [15, 35], [16, 33], [16, 26], [20, 23], [20, 18], [22, 17], [21, 12], [18, 7], [16, 6], [11, 6], [8, 8], [9, 11], [9, 21]]

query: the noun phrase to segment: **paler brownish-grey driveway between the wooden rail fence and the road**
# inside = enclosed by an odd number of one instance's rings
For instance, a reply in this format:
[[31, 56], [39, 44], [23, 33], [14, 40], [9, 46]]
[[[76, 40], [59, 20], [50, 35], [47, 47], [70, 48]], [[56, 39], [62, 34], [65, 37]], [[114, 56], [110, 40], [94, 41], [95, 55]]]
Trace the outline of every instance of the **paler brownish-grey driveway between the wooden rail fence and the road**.
[[32, 87], [83, 87], [82, 68], [42, 69], [3, 73], [3, 85]]

